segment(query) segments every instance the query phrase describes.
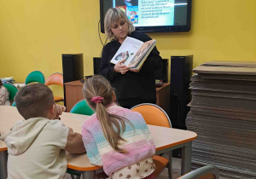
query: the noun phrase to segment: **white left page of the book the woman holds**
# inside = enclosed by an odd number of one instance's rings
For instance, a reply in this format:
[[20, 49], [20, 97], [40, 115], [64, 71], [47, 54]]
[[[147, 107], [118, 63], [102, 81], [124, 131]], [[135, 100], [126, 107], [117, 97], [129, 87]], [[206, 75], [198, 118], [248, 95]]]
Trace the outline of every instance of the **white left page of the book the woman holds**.
[[110, 61], [113, 64], [117, 64], [119, 61], [125, 60], [124, 65], [130, 64], [133, 57], [137, 54], [137, 51], [142, 47], [143, 42], [136, 38], [125, 38], [125, 41], [120, 46], [119, 50], [113, 55], [113, 59]]

